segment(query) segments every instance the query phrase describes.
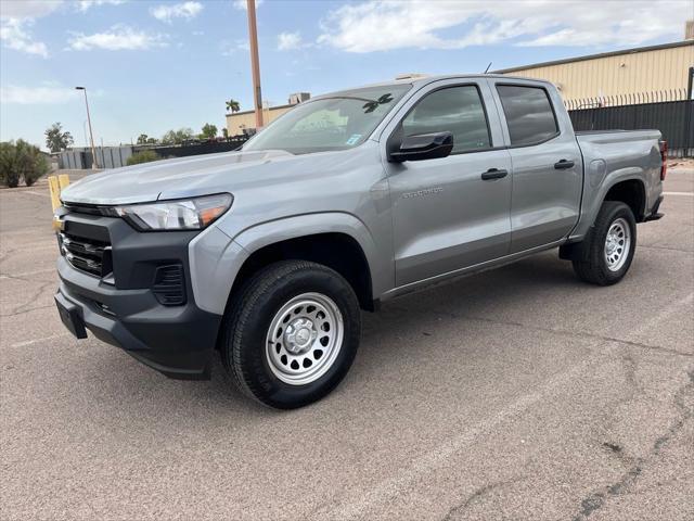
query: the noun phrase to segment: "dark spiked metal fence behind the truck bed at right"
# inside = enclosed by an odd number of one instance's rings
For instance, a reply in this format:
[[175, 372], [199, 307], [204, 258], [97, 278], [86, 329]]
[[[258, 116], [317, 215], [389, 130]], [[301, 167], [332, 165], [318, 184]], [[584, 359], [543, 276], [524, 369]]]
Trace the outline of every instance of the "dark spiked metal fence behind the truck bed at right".
[[571, 100], [566, 102], [576, 130], [658, 129], [669, 154], [694, 156], [694, 100], [686, 90]]

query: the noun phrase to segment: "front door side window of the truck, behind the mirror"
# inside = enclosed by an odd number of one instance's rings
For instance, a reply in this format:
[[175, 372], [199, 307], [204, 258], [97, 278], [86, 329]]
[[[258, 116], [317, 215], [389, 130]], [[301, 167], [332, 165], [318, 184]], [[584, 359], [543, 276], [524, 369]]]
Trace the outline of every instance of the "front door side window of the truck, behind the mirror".
[[404, 136], [450, 131], [452, 153], [489, 149], [491, 139], [477, 87], [448, 87], [427, 94], [402, 120]]

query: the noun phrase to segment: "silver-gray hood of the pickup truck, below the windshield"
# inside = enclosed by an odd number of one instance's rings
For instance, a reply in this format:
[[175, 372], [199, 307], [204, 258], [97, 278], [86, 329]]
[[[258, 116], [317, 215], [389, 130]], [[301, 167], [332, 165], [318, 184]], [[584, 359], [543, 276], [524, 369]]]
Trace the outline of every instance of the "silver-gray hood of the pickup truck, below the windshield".
[[245, 182], [268, 182], [268, 177], [277, 175], [277, 164], [299, 166], [309, 155], [271, 150], [156, 161], [87, 176], [63, 190], [61, 199], [65, 203], [116, 205], [231, 192]]

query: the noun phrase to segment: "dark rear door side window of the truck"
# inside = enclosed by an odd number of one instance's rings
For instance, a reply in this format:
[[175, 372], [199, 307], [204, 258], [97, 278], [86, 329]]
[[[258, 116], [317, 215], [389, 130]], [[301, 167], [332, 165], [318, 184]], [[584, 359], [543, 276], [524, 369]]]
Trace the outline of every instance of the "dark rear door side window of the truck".
[[558, 128], [547, 90], [498, 85], [512, 145], [536, 144], [556, 136]]

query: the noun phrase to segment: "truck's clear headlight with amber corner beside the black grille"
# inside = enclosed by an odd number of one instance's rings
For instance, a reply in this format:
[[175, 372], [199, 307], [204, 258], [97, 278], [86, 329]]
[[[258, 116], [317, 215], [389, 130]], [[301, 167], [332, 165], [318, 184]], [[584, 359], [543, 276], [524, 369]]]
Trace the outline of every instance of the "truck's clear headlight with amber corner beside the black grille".
[[234, 198], [218, 193], [194, 199], [117, 206], [115, 213], [142, 231], [202, 230], [229, 209]]

